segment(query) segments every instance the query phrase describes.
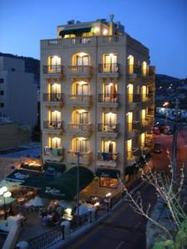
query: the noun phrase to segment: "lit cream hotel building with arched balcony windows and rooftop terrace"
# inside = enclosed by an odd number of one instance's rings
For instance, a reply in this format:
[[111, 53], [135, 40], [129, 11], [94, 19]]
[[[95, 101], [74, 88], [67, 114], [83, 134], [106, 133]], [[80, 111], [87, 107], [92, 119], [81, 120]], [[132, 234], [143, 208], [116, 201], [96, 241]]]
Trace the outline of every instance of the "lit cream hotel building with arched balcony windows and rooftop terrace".
[[44, 161], [79, 163], [115, 186], [151, 146], [154, 67], [120, 23], [68, 22], [41, 41]]

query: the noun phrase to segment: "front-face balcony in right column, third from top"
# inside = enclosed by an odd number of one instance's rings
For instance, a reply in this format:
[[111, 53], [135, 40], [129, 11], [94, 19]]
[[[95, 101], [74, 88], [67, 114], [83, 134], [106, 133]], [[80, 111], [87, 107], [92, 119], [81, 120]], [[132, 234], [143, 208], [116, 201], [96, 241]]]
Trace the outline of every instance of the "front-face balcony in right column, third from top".
[[107, 138], [116, 138], [119, 134], [119, 124], [98, 124], [100, 136]]

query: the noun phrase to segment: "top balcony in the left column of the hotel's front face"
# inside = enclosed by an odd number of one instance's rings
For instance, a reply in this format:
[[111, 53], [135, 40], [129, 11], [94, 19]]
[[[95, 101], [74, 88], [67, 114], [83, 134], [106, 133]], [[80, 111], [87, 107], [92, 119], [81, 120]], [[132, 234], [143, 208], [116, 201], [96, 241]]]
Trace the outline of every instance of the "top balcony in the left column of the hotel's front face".
[[47, 78], [62, 78], [63, 66], [61, 65], [44, 65], [43, 73]]

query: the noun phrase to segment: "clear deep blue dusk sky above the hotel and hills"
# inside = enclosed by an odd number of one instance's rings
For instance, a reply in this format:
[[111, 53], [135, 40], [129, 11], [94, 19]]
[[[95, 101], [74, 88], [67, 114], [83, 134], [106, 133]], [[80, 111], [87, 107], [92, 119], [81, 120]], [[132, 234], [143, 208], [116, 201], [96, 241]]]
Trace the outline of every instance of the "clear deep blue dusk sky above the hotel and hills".
[[39, 59], [57, 25], [111, 14], [150, 49], [157, 73], [187, 77], [187, 0], [0, 0], [0, 52]]

